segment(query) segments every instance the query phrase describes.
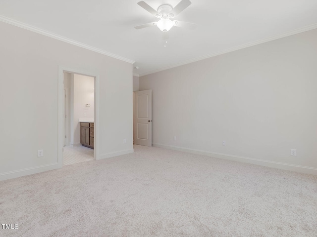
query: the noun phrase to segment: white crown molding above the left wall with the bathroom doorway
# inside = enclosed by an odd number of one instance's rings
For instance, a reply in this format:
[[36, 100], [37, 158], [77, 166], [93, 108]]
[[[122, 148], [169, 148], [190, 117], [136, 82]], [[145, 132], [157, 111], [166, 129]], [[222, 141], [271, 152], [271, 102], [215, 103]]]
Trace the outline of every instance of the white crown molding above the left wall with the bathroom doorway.
[[29, 30], [29, 31], [33, 31], [35, 33], [38, 33], [38, 34], [41, 34], [41, 35], [44, 35], [44, 36], [51, 37], [51, 38], [53, 38], [55, 40], [60, 40], [60, 41], [66, 42], [66, 43], [73, 44], [75, 46], [78, 46], [78, 47], [81, 47], [81, 48], [85, 48], [85, 49], [88, 49], [88, 50], [91, 50], [91, 51], [94, 51], [94, 52], [109, 56], [111, 58], [119, 59], [119, 60], [122, 60], [122, 61], [127, 62], [127, 63], [131, 63], [131, 64], [135, 63], [135, 61], [133, 61], [131, 59], [124, 58], [124, 57], [121, 57], [121, 56], [113, 54], [113, 53], [109, 53], [109, 52], [107, 52], [105, 50], [90, 46], [90, 45], [85, 44], [85, 43], [81, 43], [81, 42], [78, 42], [78, 41], [75, 41], [75, 40], [68, 39], [68, 38], [63, 37], [63, 36], [56, 35], [56, 34], [54, 34], [52, 32], [45, 31], [43, 29], [40, 29], [40, 28], [31, 26], [31, 25], [22, 23], [20, 21], [13, 20], [13, 19], [5, 17], [5, 16], [1, 16], [0, 15], [0, 21], [8, 23], [10, 25], [14, 25], [14, 26], [26, 29], [26, 30]]

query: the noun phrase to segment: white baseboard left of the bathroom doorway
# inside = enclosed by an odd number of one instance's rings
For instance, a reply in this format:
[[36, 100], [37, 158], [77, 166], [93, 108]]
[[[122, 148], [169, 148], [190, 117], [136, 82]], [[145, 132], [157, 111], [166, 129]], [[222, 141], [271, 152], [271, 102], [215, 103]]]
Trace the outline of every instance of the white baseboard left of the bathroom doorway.
[[40, 165], [40, 166], [35, 166], [31, 168], [26, 168], [26, 169], [19, 169], [19, 170], [14, 170], [10, 172], [5, 172], [0, 174], [0, 180], [6, 180], [6, 179], [13, 179], [29, 174], [36, 174], [52, 169], [57, 169], [58, 168], [58, 163], [52, 163], [52, 164], [45, 164], [45, 165]]

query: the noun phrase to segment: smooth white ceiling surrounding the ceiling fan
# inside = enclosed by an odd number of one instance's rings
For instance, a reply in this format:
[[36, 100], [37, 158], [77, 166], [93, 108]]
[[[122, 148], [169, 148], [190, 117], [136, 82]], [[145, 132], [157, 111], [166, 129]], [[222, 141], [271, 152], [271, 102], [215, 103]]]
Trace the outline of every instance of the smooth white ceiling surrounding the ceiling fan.
[[[164, 47], [157, 18], [139, 0], [1, 0], [0, 15], [135, 61], [146, 75], [306, 26], [317, 28], [317, 0], [191, 0]], [[145, 0], [157, 9], [180, 0]], [[313, 26], [311, 26], [313, 25]], [[306, 28], [307, 29], [307, 28]]]

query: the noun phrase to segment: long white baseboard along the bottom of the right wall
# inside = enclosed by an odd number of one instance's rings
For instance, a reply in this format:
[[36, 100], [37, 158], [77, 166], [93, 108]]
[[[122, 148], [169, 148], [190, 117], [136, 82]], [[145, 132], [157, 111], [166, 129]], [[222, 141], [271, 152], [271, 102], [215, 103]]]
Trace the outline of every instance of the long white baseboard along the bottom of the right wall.
[[239, 157], [239, 156], [234, 156], [234, 155], [214, 153], [214, 152], [202, 151], [202, 150], [196, 150], [196, 149], [190, 149], [190, 148], [184, 148], [184, 147], [163, 145], [163, 144], [159, 144], [159, 143], [153, 143], [153, 146], [165, 148], [165, 149], [170, 149], [170, 150], [175, 150], [175, 151], [189, 152], [189, 153], [193, 153], [193, 154], [204, 155], [204, 156], [209, 156], [209, 157], [214, 157], [214, 158], [228, 159], [228, 160], [240, 161], [240, 162], [244, 162], [244, 163], [251, 163], [251, 164], [268, 166], [268, 167], [272, 167], [272, 168], [291, 170], [291, 171], [296, 171], [296, 172], [301, 172], [301, 173], [306, 173], [306, 174], [317, 175], [317, 168], [314, 168], [314, 167], [301, 166], [301, 165], [295, 165], [295, 164], [287, 164], [287, 163], [281, 163], [281, 162], [275, 162], [275, 161], [269, 161], [269, 160], [263, 160], [263, 159], [256, 159], [256, 158]]

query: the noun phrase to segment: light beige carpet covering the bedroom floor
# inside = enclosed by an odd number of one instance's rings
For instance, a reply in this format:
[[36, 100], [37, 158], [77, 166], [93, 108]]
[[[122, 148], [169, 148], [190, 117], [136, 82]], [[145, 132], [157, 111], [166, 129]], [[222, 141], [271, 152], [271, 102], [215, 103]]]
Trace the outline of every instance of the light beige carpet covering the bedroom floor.
[[0, 182], [0, 236], [317, 236], [317, 176], [134, 149]]

